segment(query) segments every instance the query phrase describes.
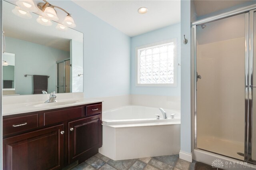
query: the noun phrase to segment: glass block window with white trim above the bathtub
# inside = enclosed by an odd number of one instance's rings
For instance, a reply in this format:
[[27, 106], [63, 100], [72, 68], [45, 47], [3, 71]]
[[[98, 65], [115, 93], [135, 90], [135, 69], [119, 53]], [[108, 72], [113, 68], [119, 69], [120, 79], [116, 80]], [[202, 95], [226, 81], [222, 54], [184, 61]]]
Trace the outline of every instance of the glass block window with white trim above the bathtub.
[[138, 84], [174, 85], [175, 48], [174, 41], [138, 48]]

